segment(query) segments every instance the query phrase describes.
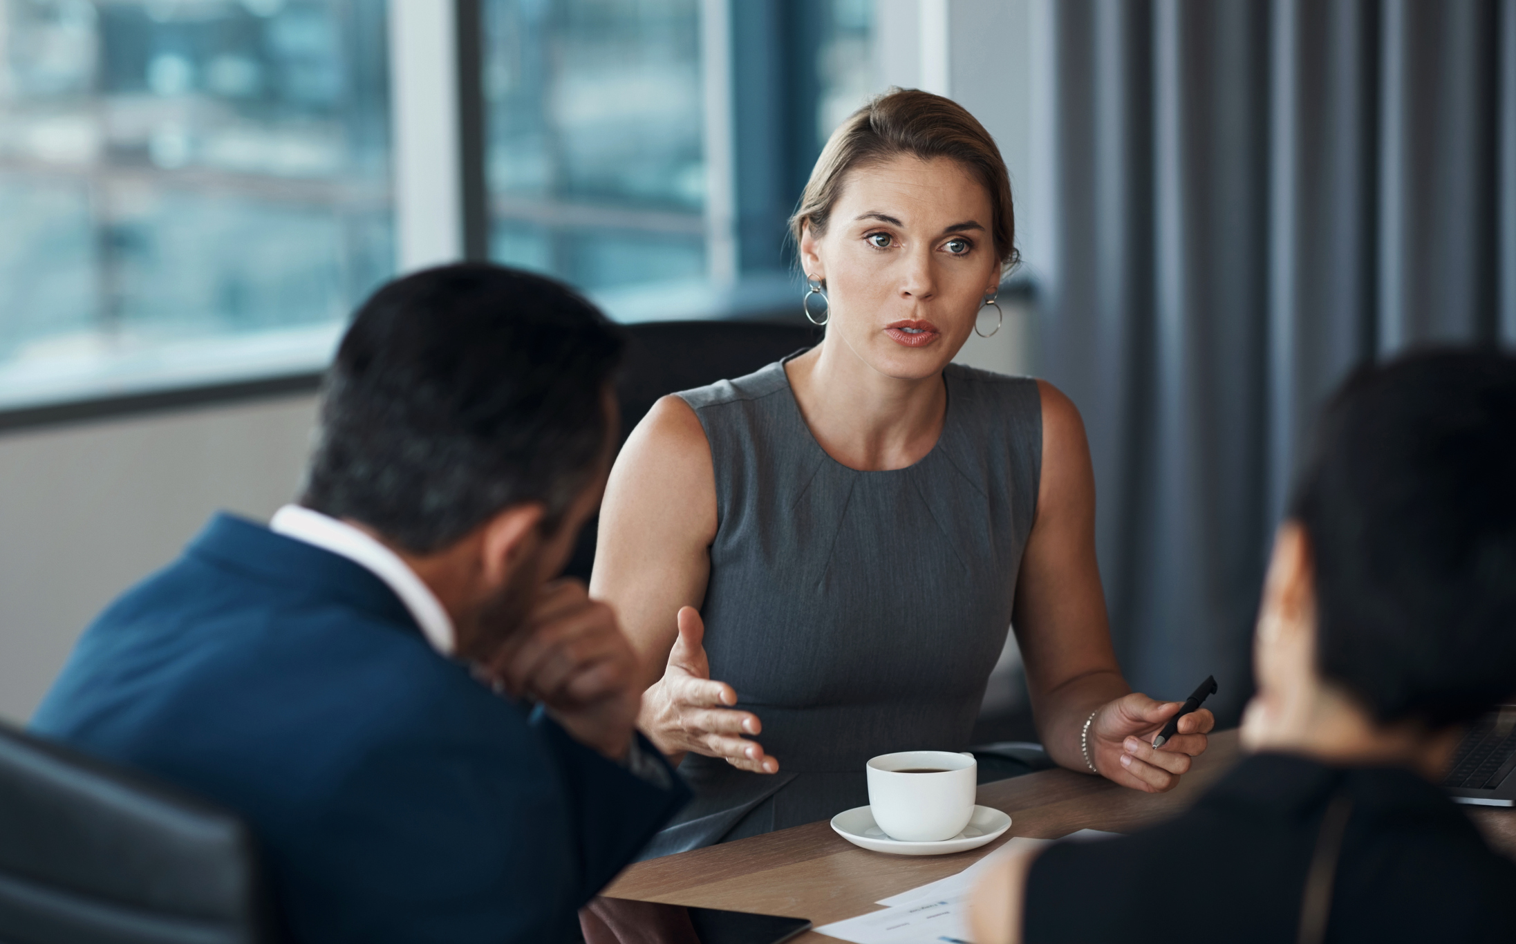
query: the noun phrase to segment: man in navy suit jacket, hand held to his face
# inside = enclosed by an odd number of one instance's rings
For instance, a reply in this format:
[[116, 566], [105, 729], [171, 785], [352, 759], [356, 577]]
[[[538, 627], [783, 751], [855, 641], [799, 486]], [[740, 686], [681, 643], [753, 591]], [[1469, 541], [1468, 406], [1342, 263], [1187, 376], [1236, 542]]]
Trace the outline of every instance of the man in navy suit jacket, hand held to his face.
[[615, 617], [552, 580], [622, 341], [494, 265], [390, 283], [300, 505], [217, 515], [79, 641], [33, 730], [240, 811], [299, 941], [562, 941], [685, 802]]

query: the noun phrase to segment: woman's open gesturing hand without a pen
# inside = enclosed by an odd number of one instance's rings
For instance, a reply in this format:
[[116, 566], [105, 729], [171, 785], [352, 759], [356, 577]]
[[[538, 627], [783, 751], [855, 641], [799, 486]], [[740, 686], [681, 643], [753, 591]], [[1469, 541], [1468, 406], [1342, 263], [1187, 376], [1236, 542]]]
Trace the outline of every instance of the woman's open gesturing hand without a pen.
[[[667, 611], [666, 611], [667, 612]], [[737, 692], [726, 682], [711, 680], [705, 658], [705, 623], [693, 606], [679, 609], [679, 636], [669, 652], [669, 667], [643, 692], [637, 726], [658, 750], [678, 765], [694, 752], [722, 758], [738, 770], [760, 774], [778, 773], [779, 761], [764, 755], [763, 746], [741, 735], [763, 730], [758, 715], [732, 711]]]

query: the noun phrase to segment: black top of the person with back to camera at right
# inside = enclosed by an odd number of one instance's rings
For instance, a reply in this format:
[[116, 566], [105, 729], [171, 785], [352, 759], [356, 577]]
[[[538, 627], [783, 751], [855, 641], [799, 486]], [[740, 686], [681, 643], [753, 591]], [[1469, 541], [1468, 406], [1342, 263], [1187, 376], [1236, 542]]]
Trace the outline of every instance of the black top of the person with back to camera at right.
[[1339, 797], [1351, 808], [1328, 942], [1516, 936], [1516, 862], [1437, 786], [1408, 770], [1257, 755], [1167, 823], [1043, 852], [1026, 880], [1026, 941], [1295, 941]]

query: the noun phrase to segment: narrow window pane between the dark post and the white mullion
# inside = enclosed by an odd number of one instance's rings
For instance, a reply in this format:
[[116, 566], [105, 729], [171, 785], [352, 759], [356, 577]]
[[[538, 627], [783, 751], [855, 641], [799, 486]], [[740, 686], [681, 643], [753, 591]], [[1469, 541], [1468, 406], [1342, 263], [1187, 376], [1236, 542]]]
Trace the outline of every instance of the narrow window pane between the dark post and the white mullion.
[[490, 0], [491, 255], [585, 289], [705, 274], [697, 0]]

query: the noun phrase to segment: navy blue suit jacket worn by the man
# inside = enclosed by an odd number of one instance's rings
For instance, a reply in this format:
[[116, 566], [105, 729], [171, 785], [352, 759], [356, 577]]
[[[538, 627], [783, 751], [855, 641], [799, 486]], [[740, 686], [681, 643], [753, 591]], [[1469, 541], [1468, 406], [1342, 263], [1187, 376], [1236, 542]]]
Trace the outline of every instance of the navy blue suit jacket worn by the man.
[[368, 570], [229, 515], [96, 620], [32, 729], [240, 811], [302, 941], [564, 939], [688, 796], [493, 694]]

